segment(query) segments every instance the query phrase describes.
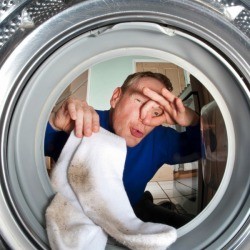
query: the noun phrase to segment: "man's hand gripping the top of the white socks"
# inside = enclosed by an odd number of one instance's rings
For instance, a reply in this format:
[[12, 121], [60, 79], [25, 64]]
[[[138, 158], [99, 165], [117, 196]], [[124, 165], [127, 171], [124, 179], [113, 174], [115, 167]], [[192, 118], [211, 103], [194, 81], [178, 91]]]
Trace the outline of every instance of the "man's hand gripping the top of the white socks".
[[57, 130], [69, 133], [73, 129], [77, 137], [91, 136], [100, 128], [99, 115], [86, 102], [68, 99], [58, 109], [52, 112], [49, 122]]

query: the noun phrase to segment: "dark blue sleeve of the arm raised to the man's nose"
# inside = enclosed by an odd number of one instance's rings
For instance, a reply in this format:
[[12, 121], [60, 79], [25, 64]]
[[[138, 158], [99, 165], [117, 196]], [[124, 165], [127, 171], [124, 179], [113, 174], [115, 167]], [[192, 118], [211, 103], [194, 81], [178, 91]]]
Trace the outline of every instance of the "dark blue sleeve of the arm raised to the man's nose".
[[181, 164], [193, 162], [201, 158], [200, 124], [186, 128], [185, 132], [177, 132], [172, 128], [161, 128], [158, 150], [164, 163]]

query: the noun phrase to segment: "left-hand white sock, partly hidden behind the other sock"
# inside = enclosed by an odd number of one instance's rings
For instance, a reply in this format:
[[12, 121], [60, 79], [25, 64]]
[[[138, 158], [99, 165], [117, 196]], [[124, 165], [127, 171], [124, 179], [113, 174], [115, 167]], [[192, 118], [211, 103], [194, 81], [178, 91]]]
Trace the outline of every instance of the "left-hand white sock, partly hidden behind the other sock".
[[105, 249], [107, 234], [86, 216], [68, 183], [67, 171], [81, 139], [71, 135], [51, 173], [57, 192], [46, 210], [46, 230], [50, 247], [64, 249]]

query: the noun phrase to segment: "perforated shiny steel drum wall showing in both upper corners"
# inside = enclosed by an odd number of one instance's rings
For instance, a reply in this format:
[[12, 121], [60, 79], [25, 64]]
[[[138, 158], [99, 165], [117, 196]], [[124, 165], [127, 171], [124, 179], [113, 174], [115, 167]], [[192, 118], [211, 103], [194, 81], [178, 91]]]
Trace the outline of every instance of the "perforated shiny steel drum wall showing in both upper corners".
[[[250, 37], [250, 10], [239, 0], [193, 0], [228, 18]], [[70, 1], [74, 4], [74, 1]], [[0, 52], [17, 32], [32, 31], [69, 7], [67, 0], [3, 0], [0, 2]], [[29, 32], [26, 32], [27, 35]], [[22, 34], [23, 37], [23, 34]]]

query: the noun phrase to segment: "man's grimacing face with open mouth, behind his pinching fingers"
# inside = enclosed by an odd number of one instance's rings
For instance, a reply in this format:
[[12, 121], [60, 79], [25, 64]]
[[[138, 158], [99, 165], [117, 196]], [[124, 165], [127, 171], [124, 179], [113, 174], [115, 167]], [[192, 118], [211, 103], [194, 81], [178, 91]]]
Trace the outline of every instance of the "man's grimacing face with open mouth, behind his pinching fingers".
[[[143, 95], [143, 88], [147, 87], [157, 93], [161, 93], [164, 85], [151, 77], [143, 77], [137, 83], [130, 86], [125, 93], [121, 88], [115, 89], [110, 104], [113, 109], [111, 122], [114, 132], [126, 140], [127, 146], [134, 147], [148, 135], [153, 126], [148, 126], [141, 119], [141, 110], [147, 105], [148, 118], [157, 116], [163, 111], [157, 103], [153, 103]], [[149, 105], [150, 103], [152, 105]]]

